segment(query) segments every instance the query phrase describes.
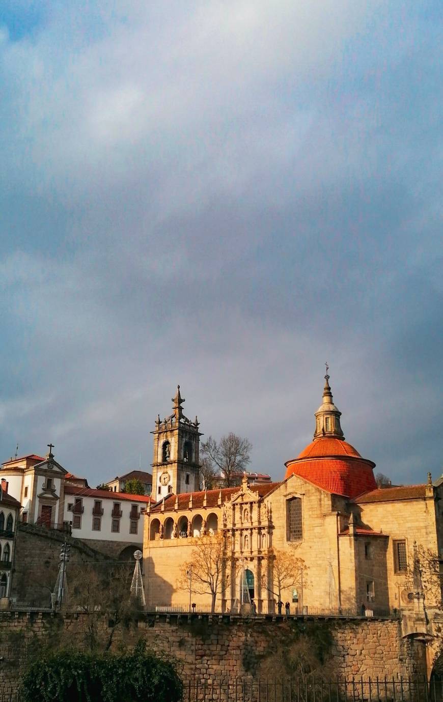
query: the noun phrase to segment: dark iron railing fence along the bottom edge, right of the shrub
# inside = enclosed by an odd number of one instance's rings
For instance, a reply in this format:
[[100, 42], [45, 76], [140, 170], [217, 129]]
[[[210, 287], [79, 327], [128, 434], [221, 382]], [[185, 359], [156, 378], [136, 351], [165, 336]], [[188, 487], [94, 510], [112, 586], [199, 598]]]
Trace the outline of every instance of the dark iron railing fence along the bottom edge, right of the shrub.
[[443, 702], [443, 678], [187, 680], [182, 702]]

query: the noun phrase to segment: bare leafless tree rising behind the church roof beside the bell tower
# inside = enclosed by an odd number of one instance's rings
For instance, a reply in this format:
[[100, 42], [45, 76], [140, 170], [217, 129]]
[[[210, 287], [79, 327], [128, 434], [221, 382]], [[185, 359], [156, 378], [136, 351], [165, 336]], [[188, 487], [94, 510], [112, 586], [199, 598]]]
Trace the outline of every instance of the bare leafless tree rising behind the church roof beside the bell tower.
[[239, 484], [242, 472], [246, 469], [246, 465], [251, 463], [251, 442], [232, 432], [221, 437], [218, 443], [210, 436], [201, 444], [200, 450], [204, 459], [207, 459], [213, 467], [219, 468], [226, 487]]

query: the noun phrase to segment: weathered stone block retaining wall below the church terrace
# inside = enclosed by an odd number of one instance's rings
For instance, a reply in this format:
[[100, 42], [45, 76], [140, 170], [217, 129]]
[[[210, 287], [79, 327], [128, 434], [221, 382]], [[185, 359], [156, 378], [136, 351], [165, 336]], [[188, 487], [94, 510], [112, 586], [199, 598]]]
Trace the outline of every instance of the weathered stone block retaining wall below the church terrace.
[[[0, 698], [18, 690], [20, 672], [48, 642], [87, 647], [88, 614], [0, 612]], [[112, 621], [96, 621], [107, 640]], [[403, 639], [396, 620], [271, 621], [265, 618], [140, 614], [114, 630], [112, 649], [148, 646], [176, 658], [183, 680], [232, 680], [246, 676], [300, 675], [299, 659], [317, 675], [376, 678], [425, 675], [425, 646]], [[111, 649], [111, 650], [112, 650]], [[309, 656], [311, 655], [311, 658]], [[301, 656], [301, 658], [300, 658]], [[298, 663], [297, 663], [298, 661]]]

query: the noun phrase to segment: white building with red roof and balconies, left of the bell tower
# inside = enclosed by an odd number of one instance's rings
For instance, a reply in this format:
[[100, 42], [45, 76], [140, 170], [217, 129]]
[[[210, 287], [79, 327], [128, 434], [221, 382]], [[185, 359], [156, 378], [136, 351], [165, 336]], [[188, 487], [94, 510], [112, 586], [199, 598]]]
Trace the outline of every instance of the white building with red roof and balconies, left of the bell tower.
[[86, 479], [55, 461], [52, 448], [45, 458], [32, 453], [0, 468], [8, 494], [22, 505], [21, 521], [72, 531], [76, 538], [94, 541], [94, 548], [100, 548], [98, 541], [122, 549], [143, 543], [140, 515], [151, 498], [88, 487]]

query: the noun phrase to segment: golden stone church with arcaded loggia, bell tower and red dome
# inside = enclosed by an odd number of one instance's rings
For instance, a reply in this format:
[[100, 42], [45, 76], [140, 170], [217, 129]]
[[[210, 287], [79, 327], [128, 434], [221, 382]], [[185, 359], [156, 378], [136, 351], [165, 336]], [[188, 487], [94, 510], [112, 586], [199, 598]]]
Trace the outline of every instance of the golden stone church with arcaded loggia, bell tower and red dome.
[[[376, 616], [412, 614], [425, 596], [428, 606], [439, 600], [439, 578], [438, 592], [425, 593], [418, 560], [431, 553], [438, 563], [442, 552], [440, 482], [428, 474], [423, 484], [378, 485], [375, 464], [345, 440], [327, 372], [313, 440], [286, 461], [280, 482], [249, 484], [245, 476], [239, 487], [199, 491], [201, 432], [197, 417], [185, 417], [184, 402], [178, 387], [171, 415], [158, 416], [152, 432], [147, 609], [210, 611], [215, 604], [223, 612], [284, 607]], [[196, 571], [213, 558], [215, 541], [220, 550], [208, 569], [216, 585], [205, 588]]]

